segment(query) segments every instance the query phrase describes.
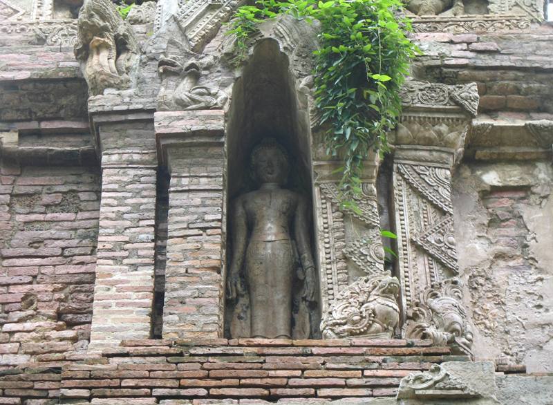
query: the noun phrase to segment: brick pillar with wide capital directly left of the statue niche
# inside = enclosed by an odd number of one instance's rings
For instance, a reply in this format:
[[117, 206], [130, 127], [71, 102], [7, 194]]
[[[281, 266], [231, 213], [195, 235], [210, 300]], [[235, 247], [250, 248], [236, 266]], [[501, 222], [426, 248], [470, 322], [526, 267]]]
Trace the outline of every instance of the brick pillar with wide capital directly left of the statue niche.
[[171, 175], [165, 339], [223, 333], [223, 111], [158, 112], [158, 153]]

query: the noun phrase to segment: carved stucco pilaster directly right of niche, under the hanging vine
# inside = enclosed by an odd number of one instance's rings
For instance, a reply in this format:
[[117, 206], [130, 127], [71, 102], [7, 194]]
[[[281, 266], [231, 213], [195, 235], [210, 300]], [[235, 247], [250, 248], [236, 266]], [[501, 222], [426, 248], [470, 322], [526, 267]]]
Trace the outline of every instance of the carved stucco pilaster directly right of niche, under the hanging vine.
[[[375, 190], [377, 161], [366, 162], [356, 209], [340, 204], [339, 162], [315, 162], [321, 332], [338, 337], [392, 337], [399, 318], [397, 279], [384, 272]], [[379, 294], [378, 292], [381, 292]]]

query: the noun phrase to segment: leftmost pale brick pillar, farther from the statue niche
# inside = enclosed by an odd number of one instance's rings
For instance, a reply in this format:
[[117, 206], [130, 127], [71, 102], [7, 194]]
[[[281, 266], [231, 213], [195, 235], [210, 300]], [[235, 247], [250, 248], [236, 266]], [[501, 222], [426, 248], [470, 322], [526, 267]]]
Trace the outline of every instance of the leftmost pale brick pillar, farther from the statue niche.
[[93, 349], [151, 335], [157, 171], [151, 115], [102, 115], [94, 123], [102, 151], [102, 201]]

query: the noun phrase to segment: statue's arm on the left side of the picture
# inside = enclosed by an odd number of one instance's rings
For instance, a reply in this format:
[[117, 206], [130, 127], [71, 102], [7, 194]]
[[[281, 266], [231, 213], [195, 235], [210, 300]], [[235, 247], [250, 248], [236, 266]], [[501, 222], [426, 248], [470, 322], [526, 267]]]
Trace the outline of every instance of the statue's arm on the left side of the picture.
[[238, 294], [243, 294], [243, 287], [240, 280], [240, 272], [244, 263], [244, 255], [247, 245], [247, 218], [242, 200], [234, 202], [232, 209], [232, 261], [229, 274], [227, 275], [227, 298], [236, 299]]

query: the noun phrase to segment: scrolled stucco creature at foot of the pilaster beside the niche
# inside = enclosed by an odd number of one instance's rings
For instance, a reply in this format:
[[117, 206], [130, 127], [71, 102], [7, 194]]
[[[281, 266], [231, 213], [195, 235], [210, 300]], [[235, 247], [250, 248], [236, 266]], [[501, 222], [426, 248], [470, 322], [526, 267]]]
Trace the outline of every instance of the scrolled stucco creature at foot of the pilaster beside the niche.
[[342, 290], [321, 322], [325, 339], [391, 338], [400, 322], [400, 282], [388, 272], [366, 276]]

